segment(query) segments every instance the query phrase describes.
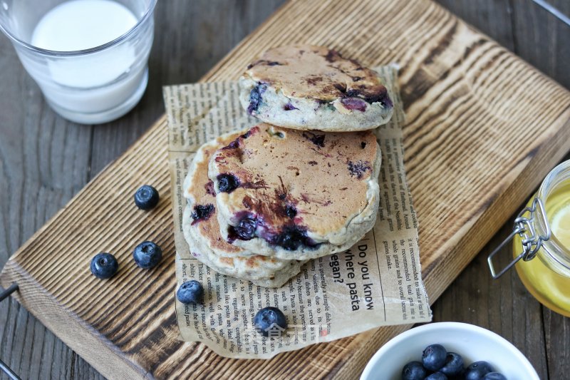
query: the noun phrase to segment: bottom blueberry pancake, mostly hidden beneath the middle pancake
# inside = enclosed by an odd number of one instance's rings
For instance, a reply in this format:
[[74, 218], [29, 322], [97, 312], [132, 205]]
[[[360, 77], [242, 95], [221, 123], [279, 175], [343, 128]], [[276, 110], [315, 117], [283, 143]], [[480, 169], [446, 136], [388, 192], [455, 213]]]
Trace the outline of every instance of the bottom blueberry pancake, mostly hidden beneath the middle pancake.
[[192, 255], [216, 272], [265, 287], [279, 287], [299, 273], [304, 262], [255, 255], [229, 244], [219, 234], [216, 194], [208, 178], [208, 162], [212, 153], [238, 137], [239, 133], [229, 133], [199, 148], [184, 182], [187, 207], [182, 215], [182, 230]]

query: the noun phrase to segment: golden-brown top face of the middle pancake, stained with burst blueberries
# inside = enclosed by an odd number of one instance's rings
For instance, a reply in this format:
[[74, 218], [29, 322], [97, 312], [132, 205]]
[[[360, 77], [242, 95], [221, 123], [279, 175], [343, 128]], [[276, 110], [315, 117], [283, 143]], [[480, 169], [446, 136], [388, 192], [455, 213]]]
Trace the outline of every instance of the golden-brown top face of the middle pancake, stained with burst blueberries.
[[371, 131], [325, 133], [261, 123], [212, 156], [218, 180], [237, 178], [219, 192], [232, 219], [253, 217], [268, 237], [297, 228], [325, 236], [348, 225], [368, 203], [378, 144]]

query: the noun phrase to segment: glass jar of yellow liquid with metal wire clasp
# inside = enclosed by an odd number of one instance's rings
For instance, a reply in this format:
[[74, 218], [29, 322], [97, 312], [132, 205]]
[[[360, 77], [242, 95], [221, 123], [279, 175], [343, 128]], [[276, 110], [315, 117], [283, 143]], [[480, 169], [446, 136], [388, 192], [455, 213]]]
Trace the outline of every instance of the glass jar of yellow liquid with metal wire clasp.
[[[496, 272], [494, 255], [513, 240], [514, 259]], [[488, 257], [494, 279], [513, 265], [541, 304], [570, 317], [570, 160], [546, 175], [538, 192], [514, 220], [514, 229]]]

